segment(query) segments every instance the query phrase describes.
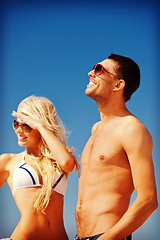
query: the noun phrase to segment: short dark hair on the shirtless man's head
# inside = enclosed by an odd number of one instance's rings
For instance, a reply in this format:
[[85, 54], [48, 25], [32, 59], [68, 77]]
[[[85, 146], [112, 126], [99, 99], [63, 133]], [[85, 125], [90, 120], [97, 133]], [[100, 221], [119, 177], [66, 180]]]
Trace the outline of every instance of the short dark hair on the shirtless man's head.
[[140, 69], [131, 58], [111, 53], [108, 59], [117, 62], [116, 75], [125, 81], [124, 100], [127, 102], [140, 85]]

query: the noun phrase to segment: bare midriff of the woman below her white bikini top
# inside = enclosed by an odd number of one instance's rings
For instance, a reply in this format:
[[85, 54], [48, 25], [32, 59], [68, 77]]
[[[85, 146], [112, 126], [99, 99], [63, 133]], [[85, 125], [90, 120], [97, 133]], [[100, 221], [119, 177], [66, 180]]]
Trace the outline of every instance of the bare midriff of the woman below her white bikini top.
[[63, 195], [53, 191], [45, 213], [33, 209], [41, 189], [24, 188], [14, 192], [21, 219], [11, 235], [13, 240], [68, 240], [63, 224]]

